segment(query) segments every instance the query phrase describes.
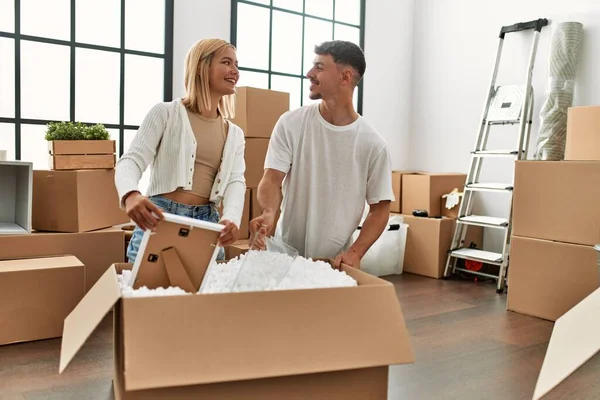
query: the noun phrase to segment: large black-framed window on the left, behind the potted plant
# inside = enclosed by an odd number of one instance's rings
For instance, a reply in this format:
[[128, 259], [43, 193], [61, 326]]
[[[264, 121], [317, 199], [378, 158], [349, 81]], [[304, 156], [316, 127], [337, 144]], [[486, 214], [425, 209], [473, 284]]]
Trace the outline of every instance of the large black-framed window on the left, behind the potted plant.
[[172, 99], [174, 0], [0, 0], [0, 148], [48, 168], [45, 125], [101, 123], [121, 156]]

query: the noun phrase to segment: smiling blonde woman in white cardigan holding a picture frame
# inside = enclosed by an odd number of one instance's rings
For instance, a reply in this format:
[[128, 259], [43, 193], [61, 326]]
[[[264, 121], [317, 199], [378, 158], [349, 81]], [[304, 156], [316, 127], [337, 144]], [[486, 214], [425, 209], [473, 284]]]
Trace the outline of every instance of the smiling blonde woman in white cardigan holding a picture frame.
[[[246, 191], [245, 140], [229, 121], [238, 78], [230, 43], [198, 41], [185, 58], [185, 97], [152, 107], [119, 159], [115, 185], [121, 207], [136, 224], [129, 262], [135, 262], [144, 231], [153, 230], [163, 212], [223, 224], [222, 247], [238, 239]], [[138, 185], [150, 164], [145, 197]], [[218, 258], [223, 255], [221, 248]]]

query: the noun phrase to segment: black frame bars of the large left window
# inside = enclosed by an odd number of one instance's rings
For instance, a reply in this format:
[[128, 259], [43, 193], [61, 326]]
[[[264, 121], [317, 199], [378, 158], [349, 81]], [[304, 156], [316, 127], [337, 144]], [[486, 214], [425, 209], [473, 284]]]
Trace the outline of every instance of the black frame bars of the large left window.
[[164, 60], [164, 83], [163, 83], [163, 99], [164, 101], [171, 101], [173, 98], [173, 28], [174, 28], [174, 0], [165, 0], [165, 47], [163, 53], [152, 53], [139, 50], [128, 50], [125, 47], [125, 2], [127, 0], [121, 0], [121, 19], [120, 19], [120, 32], [121, 40], [119, 47], [110, 47], [103, 45], [95, 45], [89, 43], [81, 43], [75, 41], [76, 31], [76, 13], [75, 7], [77, 0], [70, 1], [71, 18], [70, 18], [70, 39], [61, 40], [54, 38], [47, 38], [41, 36], [24, 35], [21, 33], [21, 0], [14, 0], [14, 32], [0, 31], [0, 37], [14, 39], [14, 66], [15, 66], [15, 111], [13, 117], [2, 117], [0, 116], [0, 123], [7, 123], [14, 125], [14, 138], [15, 138], [15, 160], [21, 160], [21, 125], [46, 125], [50, 122], [57, 120], [44, 120], [44, 119], [29, 119], [21, 117], [21, 41], [31, 41], [36, 43], [46, 43], [59, 46], [68, 46], [70, 49], [70, 88], [69, 88], [69, 121], [75, 122], [75, 78], [76, 78], [76, 50], [88, 49], [88, 50], [100, 50], [111, 53], [118, 53], [120, 55], [120, 81], [119, 81], [119, 123], [109, 124], [103, 121], [81, 121], [85, 124], [96, 124], [101, 123], [107, 129], [114, 129], [119, 131], [119, 154], [118, 157], [123, 155], [124, 144], [125, 144], [125, 131], [126, 130], [137, 130], [139, 125], [126, 125], [125, 124], [125, 56], [126, 55], [138, 55], [144, 57], [160, 58]]

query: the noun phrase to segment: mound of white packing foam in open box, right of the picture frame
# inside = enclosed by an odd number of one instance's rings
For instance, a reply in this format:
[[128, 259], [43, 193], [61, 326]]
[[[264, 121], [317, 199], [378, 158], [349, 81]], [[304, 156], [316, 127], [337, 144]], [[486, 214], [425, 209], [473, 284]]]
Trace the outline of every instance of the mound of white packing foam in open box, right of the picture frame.
[[[240, 272], [245, 258], [244, 271], [240, 281], [233, 284]], [[282, 266], [289, 265], [289, 271], [279, 284], [275, 278]], [[285, 271], [284, 271], [285, 272]], [[297, 256], [295, 259], [284, 253], [269, 251], [249, 251], [224, 264], [210, 268], [204, 282], [203, 293], [229, 293], [263, 290], [261, 280], [271, 277], [264, 290], [317, 289], [334, 287], [352, 287], [358, 283], [343, 271], [333, 269], [329, 263], [314, 261]]]

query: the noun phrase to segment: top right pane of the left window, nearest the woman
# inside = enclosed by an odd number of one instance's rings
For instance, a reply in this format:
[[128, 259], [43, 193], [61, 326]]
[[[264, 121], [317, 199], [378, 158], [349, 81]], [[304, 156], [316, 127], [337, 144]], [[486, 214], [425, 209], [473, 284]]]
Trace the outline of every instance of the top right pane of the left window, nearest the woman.
[[125, 48], [165, 52], [165, 0], [125, 1]]

